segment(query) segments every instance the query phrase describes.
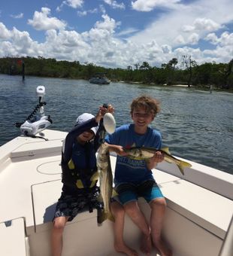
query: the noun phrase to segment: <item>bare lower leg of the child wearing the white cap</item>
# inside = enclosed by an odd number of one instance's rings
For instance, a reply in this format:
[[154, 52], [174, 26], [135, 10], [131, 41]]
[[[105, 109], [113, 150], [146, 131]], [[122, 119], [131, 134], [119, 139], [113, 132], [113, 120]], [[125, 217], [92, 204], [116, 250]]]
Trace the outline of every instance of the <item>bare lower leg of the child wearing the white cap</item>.
[[53, 228], [51, 233], [51, 251], [52, 256], [61, 256], [62, 254], [62, 234], [65, 224], [69, 217], [57, 217], [53, 221]]

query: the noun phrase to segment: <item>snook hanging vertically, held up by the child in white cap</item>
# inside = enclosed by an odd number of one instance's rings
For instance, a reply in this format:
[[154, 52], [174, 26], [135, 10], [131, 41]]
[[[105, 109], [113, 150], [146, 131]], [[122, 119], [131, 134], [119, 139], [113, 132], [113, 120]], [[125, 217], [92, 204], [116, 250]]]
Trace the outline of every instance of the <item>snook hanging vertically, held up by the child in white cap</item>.
[[100, 192], [102, 201], [104, 203], [104, 209], [98, 218], [98, 224], [101, 224], [106, 219], [114, 221], [113, 215], [110, 212], [110, 197], [112, 196], [113, 192], [113, 174], [110, 166], [108, 146], [104, 143], [98, 148], [97, 167], [100, 182]]

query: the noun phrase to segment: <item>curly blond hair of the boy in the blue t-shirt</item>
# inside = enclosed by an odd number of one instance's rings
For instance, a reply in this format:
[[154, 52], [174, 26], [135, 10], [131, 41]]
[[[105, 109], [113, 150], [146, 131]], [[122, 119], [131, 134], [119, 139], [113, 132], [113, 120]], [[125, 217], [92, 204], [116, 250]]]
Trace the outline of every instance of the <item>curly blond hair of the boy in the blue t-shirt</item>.
[[133, 99], [130, 108], [130, 114], [133, 113], [133, 111], [137, 108], [144, 108], [145, 111], [150, 112], [156, 116], [157, 113], [160, 111], [160, 102], [157, 99], [154, 99], [151, 96], [148, 95], [142, 95], [139, 96], [136, 99]]

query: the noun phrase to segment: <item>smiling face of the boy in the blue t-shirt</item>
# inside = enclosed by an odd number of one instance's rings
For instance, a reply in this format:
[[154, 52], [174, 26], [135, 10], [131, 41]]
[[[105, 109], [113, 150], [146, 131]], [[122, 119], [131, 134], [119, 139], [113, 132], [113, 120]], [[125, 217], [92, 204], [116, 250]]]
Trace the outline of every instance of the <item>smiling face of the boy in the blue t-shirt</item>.
[[155, 115], [150, 111], [146, 111], [144, 107], [135, 108], [132, 111], [132, 120], [135, 126], [138, 127], [147, 127], [153, 121], [154, 117]]

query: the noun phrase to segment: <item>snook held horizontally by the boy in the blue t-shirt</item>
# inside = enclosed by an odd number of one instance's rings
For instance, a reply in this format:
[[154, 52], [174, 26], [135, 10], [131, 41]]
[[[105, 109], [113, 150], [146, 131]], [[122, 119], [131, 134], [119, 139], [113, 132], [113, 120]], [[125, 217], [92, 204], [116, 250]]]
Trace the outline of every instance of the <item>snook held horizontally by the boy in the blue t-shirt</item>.
[[185, 167], [191, 167], [192, 165], [190, 163], [187, 163], [185, 161], [179, 160], [176, 157], [173, 157], [168, 148], [162, 148], [160, 150], [157, 150], [156, 148], [146, 148], [146, 147], [132, 147], [132, 148], [124, 148], [124, 151], [128, 153], [129, 155], [127, 157], [130, 157], [135, 160], [147, 160], [153, 157], [153, 155], [160, 151], [164, 155], [164, 160], [168, 163], [175, 163], [178, 168], [180, 169], [180, 172], [184, 175], [183, 169]]

